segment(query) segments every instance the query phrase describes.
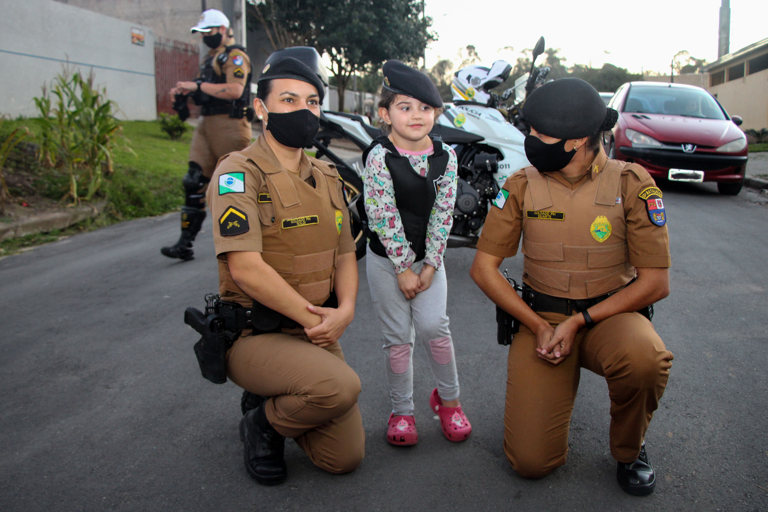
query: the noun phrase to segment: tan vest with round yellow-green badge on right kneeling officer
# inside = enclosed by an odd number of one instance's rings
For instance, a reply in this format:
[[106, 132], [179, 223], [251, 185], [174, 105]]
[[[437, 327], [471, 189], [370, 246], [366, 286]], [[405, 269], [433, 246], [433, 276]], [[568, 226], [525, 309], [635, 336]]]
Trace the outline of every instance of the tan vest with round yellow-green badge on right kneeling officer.
[[551, 296], [591, 299], [631, 281], [621, 171], [632, 165], [607, 160], [576, 190], [525, 168], [522, 253], [529, 286]]

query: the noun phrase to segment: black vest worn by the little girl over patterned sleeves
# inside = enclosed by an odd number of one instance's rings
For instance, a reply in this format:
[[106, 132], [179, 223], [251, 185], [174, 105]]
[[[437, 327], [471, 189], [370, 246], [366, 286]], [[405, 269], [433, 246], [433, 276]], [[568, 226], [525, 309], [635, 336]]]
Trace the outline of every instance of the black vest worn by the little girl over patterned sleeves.
[[[397, 211], [400, 214], [403, 230], [406, 232], [406, 239], [416, 255], [415, 261], [421, 261], [426, 256], [427, 226], [429, 226], [429, 216], [432, 215], [435, 197], [437, 197], [437, 180], [445, 174], [445, 168], [448, 167], [449, 154], [442, 149], [442, 138], [433, 134], [430, 134], [430, 137], [432, 137], [434, 152], [427, 157], [429, 166], [426, 176], [417, 173], [411, 167], [408, 157], [399, 154], [395, 145], [386, 136], [373, 140], [362, 153], [362, 161], [365, 162], [370, 151], [378, 144], [389, 150], [384, 157], [384, 162], [389, 169], [389, 174], [392, 175]], [[365, 218], [365, 213], [361, 213], [361, 216]], [[379, 235], [372, 230], [367, 234], [373, 253], [386, 258], [386, 249], [379, 240]]]

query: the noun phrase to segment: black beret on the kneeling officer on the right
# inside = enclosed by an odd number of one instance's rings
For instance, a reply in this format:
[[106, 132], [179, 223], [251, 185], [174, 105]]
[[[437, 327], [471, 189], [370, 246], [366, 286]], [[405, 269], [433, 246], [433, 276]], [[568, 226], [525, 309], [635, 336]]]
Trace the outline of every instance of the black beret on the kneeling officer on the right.
[[581, 78], [560, 78], [528, 96], [523, 117], [541, 134], [556, 139], [580, 139], [594, 134], [604, 124], [606, 107], [598, 91]]

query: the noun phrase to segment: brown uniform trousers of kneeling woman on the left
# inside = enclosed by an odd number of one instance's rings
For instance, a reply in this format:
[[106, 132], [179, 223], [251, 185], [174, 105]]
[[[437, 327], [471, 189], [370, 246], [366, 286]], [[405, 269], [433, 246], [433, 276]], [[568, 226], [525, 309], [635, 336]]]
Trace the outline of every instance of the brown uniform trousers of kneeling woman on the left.
[[251, 393], [274, 397], [266, 419], [317, 467], [348, 473], [362, 461], [360, 379], [339, 343], [320, 348], [304, 335], [244, 336], [227, 353], [227, 374]]

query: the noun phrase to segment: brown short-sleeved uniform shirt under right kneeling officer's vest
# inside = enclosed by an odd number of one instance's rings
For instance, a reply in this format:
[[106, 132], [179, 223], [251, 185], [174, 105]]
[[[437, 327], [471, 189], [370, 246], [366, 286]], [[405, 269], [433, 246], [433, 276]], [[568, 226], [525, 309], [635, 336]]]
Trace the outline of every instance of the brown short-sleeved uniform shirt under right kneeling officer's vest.
[[[570, 183], [558, 171], [544, 173], [544, 175], [550, 190], [554, 187], [577, 190], [588, 183], [588, 180], [597, 180], [599, 173], [609, 162], [614, 166], [617, 164], [624, 165], [624, 162], [608, 160], [601, 148], [590, 169], [575, 183]], [[535, 170], [532, 167], [526, 169]], [[524, 212], [523, 205], [528, 189], [526, 169], [519, 170], [506, 180], [503, 189], [508, 192], [508, 198], [503, 206], [501, 208], [491, 206], [477, 244], [477, 248], [484, 253], [502, 258], [509, 258], [518, 253], [521, 236], [524, 235], [524, 214], [528, 214]], [[535, 172], [538, 173], [538, 171]], [[671, 263], [666, 216], [664, 216], [663, 226], [657, 226], [651, 222], [649, 215], [652, 212], [649, 213], [647, 199], [642, 197], [647, 197], [649, 187], [653, 187], [655, 190], [656, 183], [646, 170], [637, 165], [631, 166], [630, 169], [621, 170], [621, 186], [619, 188], [621, 195], [616, 198], [616, 203], [621, 202], [624, 209], [628, 260], [629, 264], [634, 267], [669, 267]], [[589, 200], [589, 206], [591, 206], [594, 195], [585, 198], [585, 200]], [[557, 209], [557, 204], [554, 204], [548, 210]], [[582, 227], [588, 230], [589, 224], [587, 223], [586, 226]], [[568, 239], [562, 239], [561, 242], [566, 246], [572, 245], [568, 243]]]

